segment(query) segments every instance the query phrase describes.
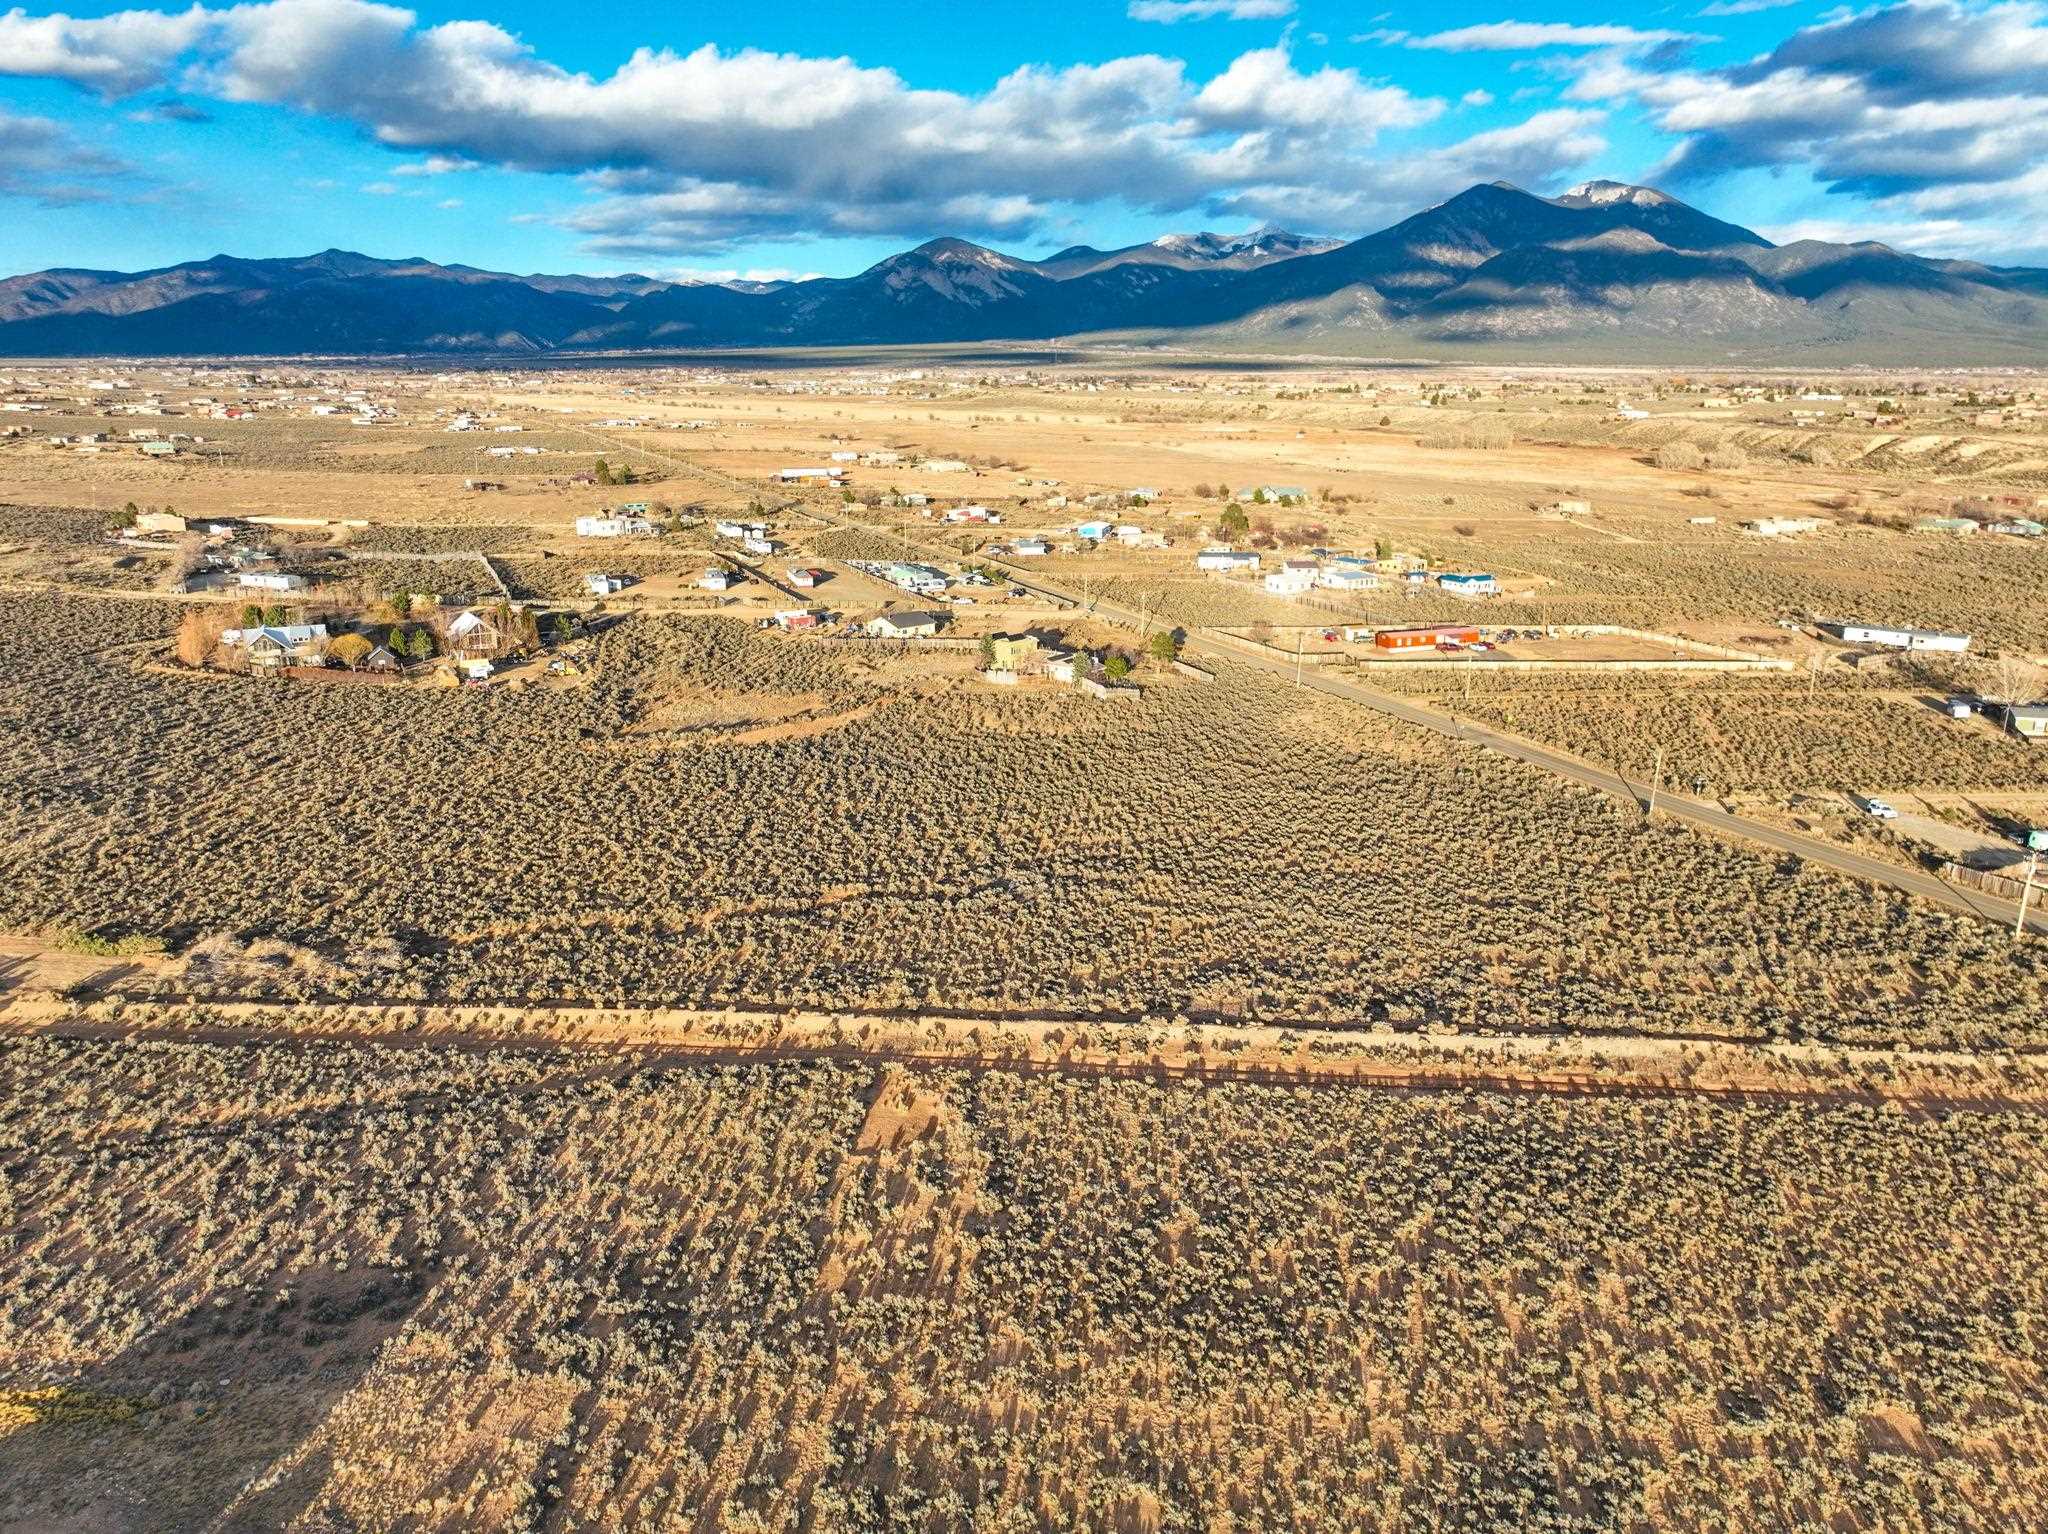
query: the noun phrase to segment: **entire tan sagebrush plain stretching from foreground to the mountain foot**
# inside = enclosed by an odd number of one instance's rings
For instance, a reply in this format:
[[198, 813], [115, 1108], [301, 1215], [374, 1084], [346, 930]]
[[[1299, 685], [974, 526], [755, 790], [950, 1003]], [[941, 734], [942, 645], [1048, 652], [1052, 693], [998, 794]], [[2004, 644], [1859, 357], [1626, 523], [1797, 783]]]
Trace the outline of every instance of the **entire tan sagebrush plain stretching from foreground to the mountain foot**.
[[[2048, 518], [2040, 381], [25, 377], [0, 1534], [2040, 1522], [2048, 946], [1903, 872], [2048, 813], [2048, 745], [1937, 707], [2048, 692], [2048, 539], [1909, 530]], [[1026, 537], [1051, 590], [981, 584]], [[1268, 594], [1194, 569], [1219, 539], [1503, 594]], [[852, 563], [903, 557], [952, 588]], [[518, 657], [459, 684], [463, 604]], [[883, 606], [944, 633], [860, 637]], [[219, 639], [293, 619], [424, 653]], [[1321, 639], [1438, 621], [1790, 670]], [[1026, 627], [1081, 682], [985, 674]], [[1647, 817], [1217, 629], [1890, 862]], [[1544, 653], [1636, 670], [1499, 664]]]

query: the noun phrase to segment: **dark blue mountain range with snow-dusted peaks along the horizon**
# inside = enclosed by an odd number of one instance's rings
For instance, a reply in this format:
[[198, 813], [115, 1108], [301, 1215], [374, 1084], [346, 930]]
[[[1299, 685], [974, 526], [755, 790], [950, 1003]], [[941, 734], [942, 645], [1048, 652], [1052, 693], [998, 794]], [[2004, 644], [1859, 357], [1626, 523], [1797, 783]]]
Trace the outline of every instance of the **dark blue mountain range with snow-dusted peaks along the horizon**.
[[633, 352], [1096, 338], [1333, 356], [2048, 363], [2048, 270], [1774, 246], [1649, 186], [1473, 186], [1362, 240], [932, 240], [856, 276], [514, 276], [342, 250], [0, 281], [6, 356]]

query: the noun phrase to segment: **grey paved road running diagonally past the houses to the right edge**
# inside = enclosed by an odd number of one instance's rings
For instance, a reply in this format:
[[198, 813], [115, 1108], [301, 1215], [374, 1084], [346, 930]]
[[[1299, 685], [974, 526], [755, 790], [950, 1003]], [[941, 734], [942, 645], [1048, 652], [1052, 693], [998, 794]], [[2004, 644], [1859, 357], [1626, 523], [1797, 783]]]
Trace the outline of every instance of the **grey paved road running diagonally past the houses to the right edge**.
[[[846, 516], [829, 516], [825, 520], [840, 522], [842, 526], [858, 526], [870, 532], [887, 532], [889, 537], [899, 537], [899, 528], [874, 528], [866, 522], [858, 522]], [[934, 559], [958, 559], [954, 549], [934, 549], [930, 545], [918, 545], [928, 557]], [[989, 559], [991, 565], [1001, 565], [1004, 569], [1028, 580], [1034, 588], [1042, 592], [1053, 592], [1055, 596], [1065, 596], [1079, 606], [1079, 598], [1073, 592], [1047, 582], [1036, 569], [1026, 569], [1014, 565], [1006, 559]], [[1090, 602], [1090, 612], [1112, 623], [1120, 623], [1128, 629], [1139, 629], [1143, 633], [1145, 619], [1130, 608], [1118, 606], [1096, 598]], [[1235, 659], [1249, 666], [1264, 668], [1276, 676], [1286, 678], [1290, 684], [1294, 680], [1294, 664], [1286, 655], [1264, 655], [1249, 649], [1237, 649], [1202, 629], [1186, 629], [1186, 643], [1182, 651], [1188, 655], [1204, 655], [1210, 659]], [[1454, 715], [1438, 713], [1436, 709], [1423, 709], [1405, 698], [1389, 696], [1386, 692], [1374, 692], [1372, 688], [1358, 686], [1356, 682], [1343, 682], [1333, 676], [1319, 676], [1315, 668], [1300, 670], [1300, 684], [1325, 692], [1333, 698], [1343, 698], [1346, 702], [1356, 702], [1376, 713], [1391, 715], [1403, 723], [1417, 725], [1421, 729], [1434, 729], [1438, 735], [1448, 735], [1470, 745], [1481, 745], [1489, 752], [1499, 752], [1501, 756], [1511, 756], [1518, 762], [1528, 762], [1530, 766], [1542, 768], [1544, 772], [1554, 772], [1561, 778], [1573, 782], [1583, 782], [1602, 793], [1612, 793], [1622, 799], [1632, 799], [1638, 805], [1645, 803], [1647, 784], [1638, 786], [1624, 780], [1620, 774], [1608, 768], [1585, 762], [1577, 756], [1565, 752], [1552, 752], [1546, 745], [1536, 745], [1526, 739], [1516, 739], [1513, 735], [1503, 735], [1485, 725], [1470, 723], [1466, 719], [1456, 719]], [[1849, 848], [1839, 848], [1833, 842], [1823, 842], [1812, 836], [1802, 836], [1798, 832], [1784, 832], [1776, 825], [1763, 825], [1761, 821], [1743, 819], [1741, 815], [1731, 815], [1720, 805], [1710, 805], [1700, 799], [1688, 799], [1686, 795], [1673, 795], [1669, 791], [1659, 791], [1657, 813], [1675, 815], [1681, 821], [1700, 825], [1708, 832], [1718, 832], [1720, 836], [1741, 838], [1745, 842], [1755, 842], [1767, 846], [1774, 852], [1786, 852], [1794, 858], [1810, 862], [1819, 868], [1831, 868], [1833, 872], [1849, 875], [1849, 879], [1862, 879], [1868, 885], [1884, 885], [1888, 889], [1901, 889], [1907, 895], [1919, 895], [1935, 905], [1946, 905], [1952, 911], [1964, 911], [1968, 915], [1980, 915], [1989, 922], [2001, 924], [2007, 932], [2019, 920], [2017, 901], [2005, 901], [1997, 895], [1982, 895], [1974, 889], [1962, 889], [1946, 879], [1937, 879], [1931, 872], [1919, 868], [1909, 868], [1905, 864], [1886, 862], [1882, 858], [1872, 858], [1862, 852], [1851, 852]], [[2048, 889], [2038, 889], [2034, 905], [2028, 907], [2028, 932], [2048, 936]]]

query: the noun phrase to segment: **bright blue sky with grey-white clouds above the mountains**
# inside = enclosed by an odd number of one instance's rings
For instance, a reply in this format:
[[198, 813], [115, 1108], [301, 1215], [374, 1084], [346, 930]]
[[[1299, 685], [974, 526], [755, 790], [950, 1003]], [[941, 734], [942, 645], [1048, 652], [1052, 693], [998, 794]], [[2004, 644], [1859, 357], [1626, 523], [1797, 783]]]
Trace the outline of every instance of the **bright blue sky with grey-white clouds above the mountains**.
[[1475, 180], [1659, 184], [1772, 238], [2048, 264], [2048, 6], [371, 0], [0, 14], [0, 268], [344, 246], [850, 272]]

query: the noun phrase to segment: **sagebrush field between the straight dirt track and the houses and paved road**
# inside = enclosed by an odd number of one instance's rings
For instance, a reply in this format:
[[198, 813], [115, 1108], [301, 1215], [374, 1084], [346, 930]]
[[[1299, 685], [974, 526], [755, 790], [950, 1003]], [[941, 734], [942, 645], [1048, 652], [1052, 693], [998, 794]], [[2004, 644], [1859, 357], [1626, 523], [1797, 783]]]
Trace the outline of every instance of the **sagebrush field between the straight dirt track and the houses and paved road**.
[[575, 690], [317, 688], [137, 670], [170, 616], [0, 600], [0, 924], [158, 936], [201, 987], [276, 940], [293, 961], [233, 983], [1911, 1040], [2048, 1018], [2038, 946], [1247, 674], [1106, 709], [631, 614]]

